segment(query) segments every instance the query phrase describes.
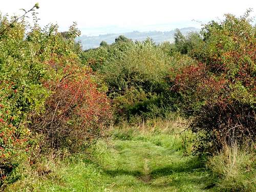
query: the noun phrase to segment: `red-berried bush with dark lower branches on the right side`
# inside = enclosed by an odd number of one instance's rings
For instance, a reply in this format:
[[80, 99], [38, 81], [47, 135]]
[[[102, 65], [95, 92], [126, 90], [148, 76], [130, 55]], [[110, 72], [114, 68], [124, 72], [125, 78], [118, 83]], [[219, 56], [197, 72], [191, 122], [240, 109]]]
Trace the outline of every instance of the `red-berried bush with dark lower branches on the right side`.
[[255, 141], [255, 28], [249, 11], [227, 14], [203, 28], [203, 44], [193, 50], [198, 63], [181, 68], [173, 79], [183, 96], [185, 115], [193, 116], [199, 152], [215, 152], [224, 144]]

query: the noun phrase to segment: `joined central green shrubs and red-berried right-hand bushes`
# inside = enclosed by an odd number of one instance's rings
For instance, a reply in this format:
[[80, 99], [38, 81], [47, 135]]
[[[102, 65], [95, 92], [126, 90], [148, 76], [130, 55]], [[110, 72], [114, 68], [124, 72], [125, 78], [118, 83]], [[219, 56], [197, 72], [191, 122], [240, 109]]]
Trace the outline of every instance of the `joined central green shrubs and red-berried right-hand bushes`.
[[256, 44], [249, 14], [227, 14], [200, 33], [177, 30], [172, 44], [120, 37], [82, 59], [96, 66], [117, 117], [179, 112], [198, 135], [196, 151], [215, 153], [225, 144], [255, 141]]

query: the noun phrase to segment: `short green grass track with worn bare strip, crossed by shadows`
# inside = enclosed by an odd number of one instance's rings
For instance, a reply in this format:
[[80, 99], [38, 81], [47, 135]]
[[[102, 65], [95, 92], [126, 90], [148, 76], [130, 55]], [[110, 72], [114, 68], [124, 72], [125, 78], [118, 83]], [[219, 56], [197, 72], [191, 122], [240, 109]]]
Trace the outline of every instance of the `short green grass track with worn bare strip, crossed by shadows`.
[[114, 140], [106, 191], [206, 191], [211, 175], [195, 157], [151, 141]]

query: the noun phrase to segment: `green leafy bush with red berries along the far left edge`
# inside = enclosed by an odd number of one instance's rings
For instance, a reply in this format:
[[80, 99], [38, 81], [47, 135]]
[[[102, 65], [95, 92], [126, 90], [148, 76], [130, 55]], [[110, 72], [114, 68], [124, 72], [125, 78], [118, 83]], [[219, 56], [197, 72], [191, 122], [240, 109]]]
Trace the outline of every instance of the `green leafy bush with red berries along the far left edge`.
[[[9, 26], [7, 17], [1, 28]], [[21, 153], [28, 150], [30, 131], [25, 119], [31, 111], [39, 113], [49, 92], [42, 81], [47, 69], [36, 56], [36, 44], [24, 40], [25, 23], [15, 23], [0, 36], [0, 179], [12, 172]], [[1, 30], [2, 30], [1, 29]]]

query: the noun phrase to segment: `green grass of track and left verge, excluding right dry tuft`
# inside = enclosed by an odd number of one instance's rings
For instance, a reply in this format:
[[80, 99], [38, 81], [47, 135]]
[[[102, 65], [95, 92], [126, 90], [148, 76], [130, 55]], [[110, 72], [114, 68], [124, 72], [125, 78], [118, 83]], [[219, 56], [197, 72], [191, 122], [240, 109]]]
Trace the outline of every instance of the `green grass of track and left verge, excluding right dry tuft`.
[[129, 126], [109, 135], [108, 142], [91, 149], [90, 158], [42, 162], [40, 168], [50, 174], [30, 170], [6, 191], [207, 191], [214, 186], [205, 163], [184, 154], [182, 138], [174, 131]]

